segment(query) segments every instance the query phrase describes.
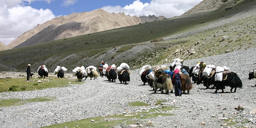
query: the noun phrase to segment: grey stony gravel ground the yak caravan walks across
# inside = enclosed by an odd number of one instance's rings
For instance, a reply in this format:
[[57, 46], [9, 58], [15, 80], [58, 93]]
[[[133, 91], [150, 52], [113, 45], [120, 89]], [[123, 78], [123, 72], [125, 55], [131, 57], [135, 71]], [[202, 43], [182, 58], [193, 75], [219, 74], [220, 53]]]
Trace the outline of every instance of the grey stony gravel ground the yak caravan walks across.
[[[138, 122], [152, 122], [152, 127], [178, 128], [216, 128], [216, 127], [256, 127], [256, 80], [248, 80], [248, 73], [256, 68], [256, 49], [232, 52], [196, 60], [188, 60], [184, 65], [192, 67], [196, 61], [204, 61], [215, 66], [227, 66], [236, 72], [243, 82], [243, 88], [230, 93], [213, 93], [215, 90], [205, 89], [202, 84], [193, 84], [190, 94], [175, 97], [174, 93], [154, 93], [148, 85], [143, 86], [138, 70], [131, 71], [131, 82], [127, 85], [110, 83], [106, 78], [85, 80], [82, 85], [70, 85], [62, 88], [49, 88], [40, 91], [2, 92], [0, 99], [28, 99], [43, 96], [55, 97], [49, 102], [32, 102], [21, 106], [0, 108], [0, 126], [2, 128], [35, 128], [78, 119], [129, 114], [130, 112], [147, 111], [156, 106], [156, 100], [167, 100], [164, 106], [180, 107], [175, 111], [167, 111], [174, 116], [148, 118]], [[6, 76], [19, 76], [20, 73], [4, 72]], [[3, 74], [3, 72], [1, 72]], [[24, 73], [21, 73], [24, 74]], [[148, 107], [130, 107], [128, 103], [142, 101], [151, 104]], [[244, 110], [234, 109], [242, 105]], [[128, 112], [127, 112], [128, 111]], [[226, 120], [224, 120], [226, 119]], [[120, 125], [115, 126], [121, 127]], [[145, 125], [145, 127], [148, 127]]]

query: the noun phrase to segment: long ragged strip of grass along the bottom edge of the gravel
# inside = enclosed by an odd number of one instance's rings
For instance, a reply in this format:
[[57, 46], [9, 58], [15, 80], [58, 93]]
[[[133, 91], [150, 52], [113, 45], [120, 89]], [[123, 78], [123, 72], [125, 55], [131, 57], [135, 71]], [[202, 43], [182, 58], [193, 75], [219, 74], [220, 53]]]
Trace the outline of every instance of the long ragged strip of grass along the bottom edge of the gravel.
[[[127, 125], [136, 124], [140, 122], [140, 124], [144, 125], [144, 127], [151, 126], [153, 124], [147, 124], [142, 119], [149, 119], [157, 116], [173, 116], [174, 114], [165, 113], [168, 110], [172, 110], [175, 108], [174, 106], [157, 109], [150, 109], [148, 112], [139, 112], [139, 113], [130, 113], [131, 116], [125, 116], [124, 114], [113, 115], [107, 117], [94, 117], [88, 119], [82, 119], [77, 121], [70, 121], [62, 124], [53, 124], [49, 126], [45, 126], [43, 128], [111, 128], [113, 126], [117, 126], [125, 122]], [[136, 120], [134, 119], [136, 118]], [[92, 122], [94, 120], [95, 122]]]

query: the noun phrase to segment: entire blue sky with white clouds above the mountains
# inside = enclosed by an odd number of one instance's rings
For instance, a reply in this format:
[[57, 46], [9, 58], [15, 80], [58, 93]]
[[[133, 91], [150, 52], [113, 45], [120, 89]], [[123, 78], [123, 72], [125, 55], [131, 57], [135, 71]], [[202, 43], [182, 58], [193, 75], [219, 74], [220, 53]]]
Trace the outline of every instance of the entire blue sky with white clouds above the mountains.
[[203, 0], [0, 0], [0, 41], [9, 44], [22, 33], [74, 12], [103, 9], [130, 16], [179, 16]]

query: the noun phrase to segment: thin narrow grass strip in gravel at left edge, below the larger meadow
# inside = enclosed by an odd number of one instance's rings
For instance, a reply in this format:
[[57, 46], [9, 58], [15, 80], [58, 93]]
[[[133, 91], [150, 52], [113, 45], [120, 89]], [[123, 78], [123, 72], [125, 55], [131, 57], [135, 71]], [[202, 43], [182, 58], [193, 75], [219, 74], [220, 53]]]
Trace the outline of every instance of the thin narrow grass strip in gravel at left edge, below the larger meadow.
[[29, 102], [45, 102], [53, 101], [54, 97], [37, 97], [33, 99], [21, 100], [21, 99], [2, 99], [0, 100], [0, 108], [9, 106], [19, 106]]

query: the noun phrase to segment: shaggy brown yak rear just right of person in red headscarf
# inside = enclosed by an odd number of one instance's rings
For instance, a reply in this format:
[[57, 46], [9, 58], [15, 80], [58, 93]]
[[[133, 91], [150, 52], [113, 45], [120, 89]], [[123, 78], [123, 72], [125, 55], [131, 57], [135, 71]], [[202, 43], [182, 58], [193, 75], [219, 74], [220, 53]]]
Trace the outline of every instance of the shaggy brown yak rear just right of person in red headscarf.
[[182, 74], [180, 83], [183, 94], [185, 94], [186, 90], [188, 91], [189, 94], [189, 90], [193, 88], [190, 77], [187, 74]]

